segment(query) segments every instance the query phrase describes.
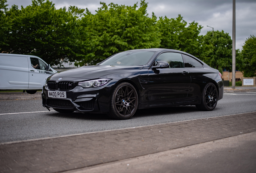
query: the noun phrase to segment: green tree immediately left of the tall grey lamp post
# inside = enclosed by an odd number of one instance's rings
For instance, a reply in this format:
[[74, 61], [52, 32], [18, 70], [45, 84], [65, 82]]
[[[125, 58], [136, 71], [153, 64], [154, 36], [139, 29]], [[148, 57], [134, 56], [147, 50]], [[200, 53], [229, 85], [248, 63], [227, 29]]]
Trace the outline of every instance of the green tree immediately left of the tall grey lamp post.
[[[203, 36], [202, 46], [208, 49], [208, 52], [202, 57], [202, 60], [209, 66], [221, 69], [232, 68], [232, 40], [228, 33], [222, 31], [208, 31]], [[207, 48], [206, 48], [207, 47]]]

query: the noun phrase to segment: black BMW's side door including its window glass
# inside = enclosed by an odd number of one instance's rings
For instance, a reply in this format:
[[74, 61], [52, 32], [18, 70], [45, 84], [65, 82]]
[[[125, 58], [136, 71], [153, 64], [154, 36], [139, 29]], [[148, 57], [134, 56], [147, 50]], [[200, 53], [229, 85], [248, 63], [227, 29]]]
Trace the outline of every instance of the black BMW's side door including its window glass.
[[155, 61], [168, 62], [169, 68], [149, 69], [149, 102], [167, 102], [186, 99], [191, 77], [184, 68], [182, 55], [164, 52]]

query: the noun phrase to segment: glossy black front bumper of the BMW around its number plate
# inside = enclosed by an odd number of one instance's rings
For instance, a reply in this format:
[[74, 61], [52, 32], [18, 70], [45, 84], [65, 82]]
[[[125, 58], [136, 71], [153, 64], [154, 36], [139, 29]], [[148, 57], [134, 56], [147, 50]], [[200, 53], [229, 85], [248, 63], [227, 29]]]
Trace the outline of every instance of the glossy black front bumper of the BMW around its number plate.
[[115, 83], [115, 80], [111, 80], [106, 85], [89, 89], [76, 86], [74, 89], [66, 91], [66, 99], [48, 97], [48, 91], [59, 90], [50, 90], [48, 87], [43, 87], [42, 104], [47, 109], [107, 113], [109, 112], [111, 93]]

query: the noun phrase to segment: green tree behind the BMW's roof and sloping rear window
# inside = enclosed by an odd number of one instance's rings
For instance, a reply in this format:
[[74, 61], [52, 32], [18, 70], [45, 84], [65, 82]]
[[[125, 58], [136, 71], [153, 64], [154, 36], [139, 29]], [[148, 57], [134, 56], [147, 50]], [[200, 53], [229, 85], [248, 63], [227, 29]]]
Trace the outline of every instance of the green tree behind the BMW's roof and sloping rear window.
[[201, 25], [196, 22], [188, 23], [183, 20], [179, 14], [177, 18], [160, 17], [157, 21], [157, 26], [161, 33], [161, 48], [169, 48], [188, 52], [198, 58], [204, 56], [201, 40], [202, 35], [200, 30]]

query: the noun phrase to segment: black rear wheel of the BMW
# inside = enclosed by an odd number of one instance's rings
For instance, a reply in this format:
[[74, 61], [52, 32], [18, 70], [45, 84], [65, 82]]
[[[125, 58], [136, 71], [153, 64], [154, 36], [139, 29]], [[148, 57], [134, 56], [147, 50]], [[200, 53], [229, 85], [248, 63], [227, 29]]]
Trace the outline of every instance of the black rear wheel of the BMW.
[[215, 84], [208, 83], [203, 89], [202, 101], [196, 108], [202, 111], [213, 111], [218, 102], [218, 90]]

